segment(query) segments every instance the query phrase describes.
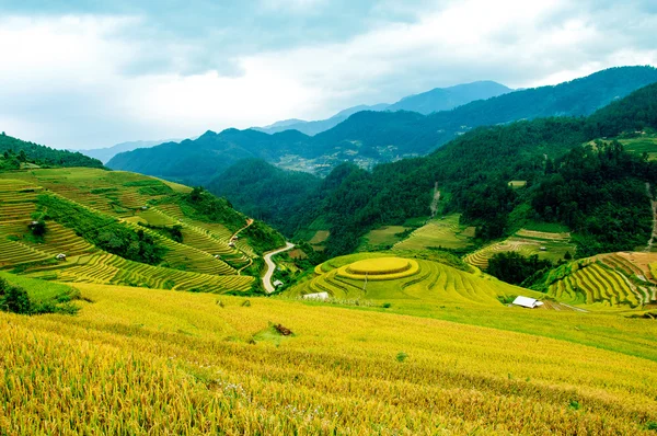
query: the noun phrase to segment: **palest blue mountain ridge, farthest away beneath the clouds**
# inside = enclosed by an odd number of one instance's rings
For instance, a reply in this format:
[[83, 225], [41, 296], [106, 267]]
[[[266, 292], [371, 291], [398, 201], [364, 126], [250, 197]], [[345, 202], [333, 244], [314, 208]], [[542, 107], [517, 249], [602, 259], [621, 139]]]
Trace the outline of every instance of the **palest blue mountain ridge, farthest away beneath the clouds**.
[[362, 111], [411, 111], [428, 115], [433, 112], [449, 111], [475, 100], [485, 100], [492, 96], [506, 94], [511, 91], [514, 90], [494, 81], [477, 81], [472, 83], [457, 84], [449, 88], [435, 88], [427, 92], [405, 96], [394, 104], [361, 104], [358, 106], [348, 107], [327, 119], [306, 122], [303, 119], [292, 118], [276, 122], [265, 127], [254, 127], [253, 129], [264, 131], [265, 134], [276, 134], [284, 130], [299, 130], [302, 134], [314, 136], [337, 126], [349, 116]]

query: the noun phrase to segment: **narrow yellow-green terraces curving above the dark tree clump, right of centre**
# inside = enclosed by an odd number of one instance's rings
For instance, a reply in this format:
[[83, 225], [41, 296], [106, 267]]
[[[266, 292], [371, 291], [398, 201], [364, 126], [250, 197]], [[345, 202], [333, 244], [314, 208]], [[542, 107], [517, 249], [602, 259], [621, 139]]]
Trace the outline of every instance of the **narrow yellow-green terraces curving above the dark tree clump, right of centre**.
[[[542, 250], [542, 249], [545, 250]], [[488, 260], [496, 253], [516, 251], [525, 256], [538, 254], [540, 259], [557, 261], [566, 252], [575, 253], [569, 233], [550, 233], [521, 229], [515, 236], [487, 245], [464, 257], [469, 264], [481, 269], [488, 267]]]

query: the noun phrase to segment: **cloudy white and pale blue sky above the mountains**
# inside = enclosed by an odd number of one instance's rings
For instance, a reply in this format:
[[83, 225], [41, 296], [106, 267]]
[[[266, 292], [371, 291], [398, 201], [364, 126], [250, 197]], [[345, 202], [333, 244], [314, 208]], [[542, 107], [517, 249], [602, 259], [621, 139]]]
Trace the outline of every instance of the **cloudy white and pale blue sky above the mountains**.
[[657, 1], [0, 0], [0, 130], [57, 148], [657, 65]]

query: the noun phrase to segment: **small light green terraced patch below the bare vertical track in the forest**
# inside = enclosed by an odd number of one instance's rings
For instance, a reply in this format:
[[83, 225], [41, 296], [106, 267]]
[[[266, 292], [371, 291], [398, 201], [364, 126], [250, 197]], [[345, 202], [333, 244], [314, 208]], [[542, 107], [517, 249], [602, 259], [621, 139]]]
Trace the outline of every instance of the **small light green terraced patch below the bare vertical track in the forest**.
[[459, 215], [434, 219], [415, 230], [405, 240], [394, 244], [394, 250], [465, 249], [472, 244], [470, 228], [459, 225]]

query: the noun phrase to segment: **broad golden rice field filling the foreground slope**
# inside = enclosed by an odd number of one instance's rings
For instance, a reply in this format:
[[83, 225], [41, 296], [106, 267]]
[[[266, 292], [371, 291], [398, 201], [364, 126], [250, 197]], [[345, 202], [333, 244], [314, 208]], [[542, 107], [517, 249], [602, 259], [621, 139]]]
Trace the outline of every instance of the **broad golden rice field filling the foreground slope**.
[[[93, 301], [76, 317], [0, 313], [5, 434], [650, 435], [657, 423], [649, 320], [500, 307], [485, 309], [492, 329], [76, 286]], [[516, 318], [534, 333], [511, 331]]]

